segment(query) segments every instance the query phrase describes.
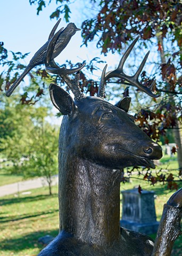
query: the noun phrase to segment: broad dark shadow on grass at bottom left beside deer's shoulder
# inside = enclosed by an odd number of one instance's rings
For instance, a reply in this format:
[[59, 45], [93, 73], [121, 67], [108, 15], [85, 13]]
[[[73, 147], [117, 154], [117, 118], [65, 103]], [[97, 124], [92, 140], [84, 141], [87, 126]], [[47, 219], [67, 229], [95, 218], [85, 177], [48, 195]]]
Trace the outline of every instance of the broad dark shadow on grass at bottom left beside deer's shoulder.
[[58, 233], [59, 233], [58, 229], [44, 230], [44, 231], [40, 230], [40, 231], [32, 232], [20, 237], [3, 239], [0, 244], [0, 250], [2, 253], [3, 251], [19, 252], [25, 249], [34, 249], [34, 248], [38, 248], [40, 251], [43, 249], [44, 246], [38, 243], [38, 238], [45, 235], [51, 235], [53, 237], [56, 237]]

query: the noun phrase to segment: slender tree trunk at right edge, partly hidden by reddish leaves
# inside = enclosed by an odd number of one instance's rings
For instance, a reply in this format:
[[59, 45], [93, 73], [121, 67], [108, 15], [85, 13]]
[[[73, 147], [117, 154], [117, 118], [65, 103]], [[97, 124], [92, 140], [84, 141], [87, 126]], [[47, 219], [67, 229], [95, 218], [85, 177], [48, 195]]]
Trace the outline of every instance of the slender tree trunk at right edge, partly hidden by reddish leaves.
[[[166, 58], [165, 58], [165, 53], [164, 53], [164, 45], [163, 45], [163, 38], [161, 35], [159, 35], [158, 33], [156, 33], [156, 37], [158, 39], [158, 43], [161, 44], [161, 50], [160, 52], [160, 58], [161, 58], [161, 63], [166, 63]], [[171, 95], [170, 96], [170, 101], [174, 102], [175, 104], [175, 99], [174, 97]], [[175, 143], [177, 145], [177, 153], [178, 153], [178, 166], [179, 166], [179, 176], [182, 174], [182, 143], [181, 143], [181, 134], [180, 134], [180, 126], [179, 126], [179, 122], [178, 122], [178, 118], [177, 115], [175, 115], [176, 117], [176, 126], [174, 127], [173, 131], [173, 135], [175, 138]]]

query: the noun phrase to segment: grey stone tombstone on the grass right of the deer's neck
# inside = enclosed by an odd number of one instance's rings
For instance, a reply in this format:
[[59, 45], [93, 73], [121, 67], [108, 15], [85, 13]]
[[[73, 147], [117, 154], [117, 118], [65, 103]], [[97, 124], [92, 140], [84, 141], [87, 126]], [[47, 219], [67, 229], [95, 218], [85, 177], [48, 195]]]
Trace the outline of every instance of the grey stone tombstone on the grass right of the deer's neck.
[[144, 234], [156, 233], [159, 222], [156, 221], [154, 192], [143, 190], [139, 194], [138, 189], [129, 189], [121, 193], [121, 227]]

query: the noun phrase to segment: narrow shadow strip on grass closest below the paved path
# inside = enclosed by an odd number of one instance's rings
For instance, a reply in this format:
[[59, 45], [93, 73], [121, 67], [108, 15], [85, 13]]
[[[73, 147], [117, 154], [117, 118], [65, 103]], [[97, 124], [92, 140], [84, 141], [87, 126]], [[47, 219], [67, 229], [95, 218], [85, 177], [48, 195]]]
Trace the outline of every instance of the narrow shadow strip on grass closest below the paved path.
[[18, 203], [27, 203], [32, 201], [38, 201], [43, 199], [48, 199], [52, 197], [57, 197], [57, 194], [53, 194], [51, 196], [47, 195], [37, 195], [37, 196], [25, 196], [25, 197], [14, 197], [7, 199], [0, 199], [0, 206], [7, 204], [18, 204]]

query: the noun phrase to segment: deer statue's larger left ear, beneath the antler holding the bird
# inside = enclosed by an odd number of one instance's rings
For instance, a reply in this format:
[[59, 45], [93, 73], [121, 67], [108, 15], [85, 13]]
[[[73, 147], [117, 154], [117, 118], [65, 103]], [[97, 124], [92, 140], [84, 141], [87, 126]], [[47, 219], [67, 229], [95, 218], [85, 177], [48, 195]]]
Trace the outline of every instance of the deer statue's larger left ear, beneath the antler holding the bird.
[[73, 99], [60, 86], [56, 84], [49, 85], [49, 93], [54, 107], [56, 107], [62, 115], [70, 115], [75, 110]]

